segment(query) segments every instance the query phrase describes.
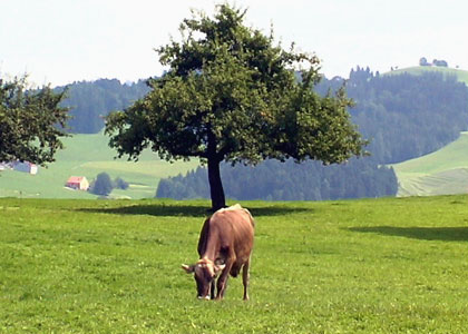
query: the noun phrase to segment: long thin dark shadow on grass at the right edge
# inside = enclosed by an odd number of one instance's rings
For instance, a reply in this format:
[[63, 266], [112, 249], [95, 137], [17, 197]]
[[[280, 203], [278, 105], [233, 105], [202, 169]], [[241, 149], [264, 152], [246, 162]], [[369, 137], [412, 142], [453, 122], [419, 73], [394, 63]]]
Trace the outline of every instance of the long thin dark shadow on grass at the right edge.
[[351, 227], [349, 230], [400, 236], [421, 240], [468, 242], [468, 227]]

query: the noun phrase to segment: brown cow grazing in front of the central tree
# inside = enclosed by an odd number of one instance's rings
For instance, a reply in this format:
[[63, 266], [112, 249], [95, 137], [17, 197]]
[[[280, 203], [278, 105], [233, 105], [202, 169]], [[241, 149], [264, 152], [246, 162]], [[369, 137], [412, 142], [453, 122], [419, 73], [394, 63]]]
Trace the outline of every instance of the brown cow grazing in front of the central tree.
[[242, 268], [244, 301], [248, 299], [253, 239], [252, 215], [238, 204], [220, 209], [205, 220], [198, 240], [199, 261], [191, 266], [182, 265], [187, 274], [194, 273], [198, 298], [214, 298], [216, 283], [216, 299], [222, 299], [228, 275], [236, 277]]

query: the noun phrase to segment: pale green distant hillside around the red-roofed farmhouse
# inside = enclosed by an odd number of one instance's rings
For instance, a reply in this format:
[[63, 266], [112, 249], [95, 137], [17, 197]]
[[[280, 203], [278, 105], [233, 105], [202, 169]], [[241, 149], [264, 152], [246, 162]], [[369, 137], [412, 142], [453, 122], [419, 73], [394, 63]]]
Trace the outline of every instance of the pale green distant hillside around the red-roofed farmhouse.
[[66, 149], [57, 154], [57, 161], [40, 168], [37, 175], [6, 170], [0, 173], [0, 197], [39, 198], [96, 198], [86, 191], [65, 188], [69, 176], [86, 176], [89, 181], [106, 171], [114, 179], [121, 177], [130, 184], [127, 190], [114, 190], [113, 196], [126, 198], [154, 197], [162, 177], [186, 173], [198, 165], [197, 160], [169, 164], [150, 151], [145, 151], [138, 163], [114, 159], [116, 151], [108, 147], [108, 137], [74, 135], [64, 140]]

